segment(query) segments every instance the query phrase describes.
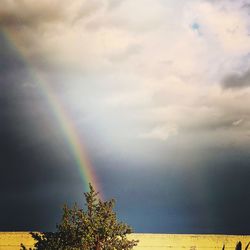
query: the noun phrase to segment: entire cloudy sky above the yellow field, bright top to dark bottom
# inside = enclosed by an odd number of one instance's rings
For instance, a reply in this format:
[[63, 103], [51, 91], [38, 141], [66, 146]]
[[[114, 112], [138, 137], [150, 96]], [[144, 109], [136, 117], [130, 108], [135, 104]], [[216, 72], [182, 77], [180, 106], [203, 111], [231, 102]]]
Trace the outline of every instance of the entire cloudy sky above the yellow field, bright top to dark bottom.
[[250, 234], [249, 15], [248, 0], [1, 0], [0, 230], [54, 230], [83, 204], [50, 90], [136, 232]]

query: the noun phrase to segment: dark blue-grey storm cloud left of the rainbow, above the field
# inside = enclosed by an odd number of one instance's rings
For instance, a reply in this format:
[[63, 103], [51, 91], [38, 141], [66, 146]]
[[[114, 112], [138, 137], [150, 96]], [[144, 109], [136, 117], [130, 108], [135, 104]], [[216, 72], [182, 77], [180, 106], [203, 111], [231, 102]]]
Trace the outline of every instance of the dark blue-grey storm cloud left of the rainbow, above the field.
[[0, 231], [53, 230], [62, 204], [82, 188], [47, 99], [1, 32], [0, 171]]

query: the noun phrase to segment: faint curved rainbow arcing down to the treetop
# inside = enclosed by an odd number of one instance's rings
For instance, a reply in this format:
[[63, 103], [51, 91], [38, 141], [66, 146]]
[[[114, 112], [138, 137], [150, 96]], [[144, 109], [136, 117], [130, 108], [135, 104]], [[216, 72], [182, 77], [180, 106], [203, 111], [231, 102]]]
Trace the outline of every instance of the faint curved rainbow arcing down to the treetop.
[[103, 194], [99, 185], [97, 175], [94, 167], [88, 158], [83, 143], [79, 139], [77, 129], [74, 126], [70, 115], [65, 111], [63, 104], [59, 97], [56, 95], [52, 87], [45, 81], [45, 79], [34, 69], [29, 63], [28, 59], [24, 56], [21, 46], [15, 42], [13, 35], [5, 28], [0, 28], [0, 32], [4, 35], [6, 41], [12, 46], [12, 49], [20, 56], [23, 63], [29, 69], [29, 74], [38, 84], [42, 94], [47, 99], [49, 106], [51, 107], [58, 124], [65, 135], [67, 142], [70, 146], [71, 152], [74, 156], [76, 165], [78, 167], [81, 179], [83, 182], [84, 191], [89, 190], [89, 183], [93, 185], [96, 191], [99, 192], [99, 198], [103, 199]]

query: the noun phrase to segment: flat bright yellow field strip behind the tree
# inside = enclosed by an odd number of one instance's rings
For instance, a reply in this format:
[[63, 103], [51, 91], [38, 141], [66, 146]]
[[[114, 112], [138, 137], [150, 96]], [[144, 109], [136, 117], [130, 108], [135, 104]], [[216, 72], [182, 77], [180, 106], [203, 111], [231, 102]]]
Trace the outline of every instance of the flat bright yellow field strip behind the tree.
[[[132, 234], [129, 238], [140, 240], [135, 250], [202, 250], [202, 249], [235, 249], [238, 241], [244, 246], [250, 241], [250, 236], [228, 235], [182, 235], [182, 234]], [[34, 241], [27, 232], [0, 233], [0, 250], [20, 249], [20, 244], [32, 247]]]

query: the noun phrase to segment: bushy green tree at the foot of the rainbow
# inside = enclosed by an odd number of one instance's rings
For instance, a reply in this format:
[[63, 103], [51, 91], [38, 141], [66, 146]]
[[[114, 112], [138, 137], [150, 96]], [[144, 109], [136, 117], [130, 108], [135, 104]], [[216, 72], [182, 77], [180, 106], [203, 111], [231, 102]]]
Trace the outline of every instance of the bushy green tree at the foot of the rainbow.
[[[73, 208], [64, 205], [56, 232], [31, 233], [36, 240], [33, 250], [129, 250], [137, 245], [127, 239], [132, 228], [117, 220], [115, 200], [101, 201], [91, 184], [89, 188], [84, 193], [85, 210], [76, 203]], [[27, 250], [23, 244], [21, 248]]]

